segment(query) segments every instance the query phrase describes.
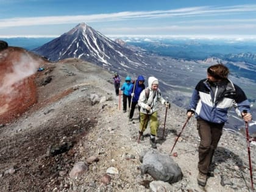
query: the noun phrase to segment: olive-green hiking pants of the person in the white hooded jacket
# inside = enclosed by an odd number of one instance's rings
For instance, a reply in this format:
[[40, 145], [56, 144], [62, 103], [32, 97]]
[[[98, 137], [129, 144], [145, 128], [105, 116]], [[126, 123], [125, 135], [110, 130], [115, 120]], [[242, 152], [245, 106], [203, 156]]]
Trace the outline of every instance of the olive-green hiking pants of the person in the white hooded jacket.
[[159, 127], [159, 123], [157, 120], [157, 112], [152, 114], [144, 114], [140, 112], [140, 131], [144, 132], [144, 130], [148, 127], [148, 122], [150, 126], [151, 135], [157, 136], [157, 129]]

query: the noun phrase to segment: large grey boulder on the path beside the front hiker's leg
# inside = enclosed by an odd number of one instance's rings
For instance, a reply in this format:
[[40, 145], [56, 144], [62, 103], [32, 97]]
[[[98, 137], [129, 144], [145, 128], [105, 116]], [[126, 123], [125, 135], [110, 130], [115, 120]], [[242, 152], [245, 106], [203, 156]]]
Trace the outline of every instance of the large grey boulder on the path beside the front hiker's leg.
[[143, 152], [140, 157], [141, 174], [150, 174], [155, 180], [175, 183], [182, 179], [182, 171], [177, 163], [167, 154], [157, 150]]

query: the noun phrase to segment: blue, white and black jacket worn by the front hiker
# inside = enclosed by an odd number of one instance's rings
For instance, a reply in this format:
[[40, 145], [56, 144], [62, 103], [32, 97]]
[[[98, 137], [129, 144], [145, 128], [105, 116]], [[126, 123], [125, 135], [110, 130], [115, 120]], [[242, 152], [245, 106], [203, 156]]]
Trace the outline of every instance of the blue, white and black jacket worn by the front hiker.
[[227, 79], [221, 83], [210, 83], [202, 79], [193, 91], [189, 110], [197, 119], [211, 123], [226, 123], [227, 112], [231, 107], [241, 116], [243, 110], [250, 112], [250, 104], [244, 91]]

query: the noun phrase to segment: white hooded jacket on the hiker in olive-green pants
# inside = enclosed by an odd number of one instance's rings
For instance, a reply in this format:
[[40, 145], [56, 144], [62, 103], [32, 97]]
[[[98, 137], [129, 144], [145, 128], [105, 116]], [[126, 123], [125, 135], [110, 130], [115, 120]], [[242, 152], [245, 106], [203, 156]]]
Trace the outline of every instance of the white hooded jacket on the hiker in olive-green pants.
[[[159, 88], [157, 90], [152, 90], [152, 83], [158, 79], [155, 77], [149, 77], [148, 79], [148, 88], [145, 88], [140, 93], [140, 98], [138, 99], [138, 105], [141, 107], [140, 112], [144, 114], [152, 114], [157, 111], [157, 103], [161, 102], [165, 104], [165, 99], [162, 98], [162, 94]], [[146, 93], [148, 91], [149, 93]], [[147, 111], [146, 106], [151, 106], [151, 110]]]

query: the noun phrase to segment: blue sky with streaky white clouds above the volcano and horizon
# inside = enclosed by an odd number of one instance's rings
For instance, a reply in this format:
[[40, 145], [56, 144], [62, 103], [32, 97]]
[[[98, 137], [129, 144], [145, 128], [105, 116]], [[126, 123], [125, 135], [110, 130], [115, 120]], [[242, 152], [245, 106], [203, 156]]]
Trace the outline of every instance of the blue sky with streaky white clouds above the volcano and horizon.
[[0, 37], [59, 37], [79, 23], [106, 36], [256, 39], [256, 1], [0, 0]]

